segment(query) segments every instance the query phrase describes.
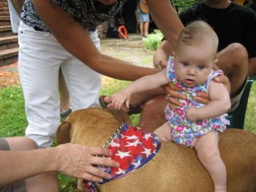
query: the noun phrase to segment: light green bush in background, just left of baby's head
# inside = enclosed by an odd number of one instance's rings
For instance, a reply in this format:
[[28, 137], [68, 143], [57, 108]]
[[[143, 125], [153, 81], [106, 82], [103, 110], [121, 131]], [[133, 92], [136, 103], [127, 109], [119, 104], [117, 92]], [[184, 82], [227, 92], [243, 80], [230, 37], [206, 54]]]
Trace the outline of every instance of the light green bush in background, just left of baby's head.
[[150, 49], [150, 50], [157, 50], [157, 47], [159, 47], [162, 37], [164, 35], [161, 33], [161, 31], [155, 29], [152, 34], [149, 34], [146, 38], [143, 38], [143, 46]]

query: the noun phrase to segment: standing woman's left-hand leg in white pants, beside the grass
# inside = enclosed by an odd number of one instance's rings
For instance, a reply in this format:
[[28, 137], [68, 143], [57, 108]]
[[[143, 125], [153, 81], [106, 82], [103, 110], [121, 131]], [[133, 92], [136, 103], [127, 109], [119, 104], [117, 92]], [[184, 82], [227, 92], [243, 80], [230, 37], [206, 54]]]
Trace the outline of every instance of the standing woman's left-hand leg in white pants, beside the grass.
[[[29, 126], [26, 137], [50, 147], [59, 126], [59, 67], [67, 53], [52, 34], [20, 23], [18, 70]], [[54, 59], [53, 59], [54, 58]]]

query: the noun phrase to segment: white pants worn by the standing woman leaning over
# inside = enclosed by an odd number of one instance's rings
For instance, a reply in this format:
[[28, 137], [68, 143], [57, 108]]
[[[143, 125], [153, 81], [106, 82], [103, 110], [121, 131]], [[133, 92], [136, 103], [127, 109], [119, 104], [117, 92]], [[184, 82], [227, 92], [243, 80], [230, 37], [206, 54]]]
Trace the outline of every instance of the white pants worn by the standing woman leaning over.
[[[97, 31], [89, 35], [99, 47]], [[59, 68], [67, 82], [73, 111], [99, 106], [100, 74], [68, 53], [53, 34], [35, 31], [20, 22], [18, 40], [18, 70], [29, 123], [26, 137], [34, 139], [39, 147], [49, 147], [60, 123]]]

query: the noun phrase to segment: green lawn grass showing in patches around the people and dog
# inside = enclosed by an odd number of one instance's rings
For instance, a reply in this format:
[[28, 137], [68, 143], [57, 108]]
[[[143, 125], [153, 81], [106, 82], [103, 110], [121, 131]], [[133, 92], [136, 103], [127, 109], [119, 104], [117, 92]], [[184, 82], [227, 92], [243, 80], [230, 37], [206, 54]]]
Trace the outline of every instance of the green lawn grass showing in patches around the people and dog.
[[[111, 95], [124, 88], [129, 82], [102, 77], [101, 95]], [[245, 129], [256, 134], [256, 83], [252, 85], [246, 110]], [[0, 137], [24, 135], [27, 126], [23, 93], [20, 86], [0, 89]], [[132, 121], [138, 123], [140, 116], [133, 115]], [[76, 179], [59, 175], [59, 188], [62, 192], [72, 192], [76, 188]]]

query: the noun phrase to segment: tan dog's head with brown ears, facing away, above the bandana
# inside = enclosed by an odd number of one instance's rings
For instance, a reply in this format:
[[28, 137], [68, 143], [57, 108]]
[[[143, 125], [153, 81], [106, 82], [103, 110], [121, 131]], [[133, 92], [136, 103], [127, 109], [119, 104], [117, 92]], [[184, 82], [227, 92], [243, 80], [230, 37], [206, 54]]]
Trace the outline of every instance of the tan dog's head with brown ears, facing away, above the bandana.
[[77, 110], [59, 126], [56, 135], [57, 145], [72, 142], [101, 147], [121, 123], [131, 124], [127, 113], [121, 110]]

